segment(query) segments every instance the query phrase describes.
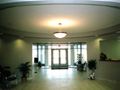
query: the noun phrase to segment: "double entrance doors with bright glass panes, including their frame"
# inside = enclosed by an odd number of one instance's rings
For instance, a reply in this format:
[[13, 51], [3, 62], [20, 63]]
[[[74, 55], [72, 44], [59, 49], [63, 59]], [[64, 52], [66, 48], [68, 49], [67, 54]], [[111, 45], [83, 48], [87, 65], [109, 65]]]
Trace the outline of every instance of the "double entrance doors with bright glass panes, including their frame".
[[52, 49], [52, 69], [68, 69], [68, 49]]

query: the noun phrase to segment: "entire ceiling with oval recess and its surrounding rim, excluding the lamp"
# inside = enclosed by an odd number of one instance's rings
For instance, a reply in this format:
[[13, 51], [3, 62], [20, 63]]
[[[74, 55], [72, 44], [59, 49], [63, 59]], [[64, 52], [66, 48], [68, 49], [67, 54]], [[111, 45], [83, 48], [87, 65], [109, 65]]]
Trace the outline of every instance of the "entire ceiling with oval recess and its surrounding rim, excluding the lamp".
[[62, 23], [62, 31], [68, 33], [66, 38], [112, 34], [120, 30], [119, 2], [20, 1], [0, 5], [0, 33], [52, 39], [55, 38], [53, 33], [58, 32], [58, 23]]

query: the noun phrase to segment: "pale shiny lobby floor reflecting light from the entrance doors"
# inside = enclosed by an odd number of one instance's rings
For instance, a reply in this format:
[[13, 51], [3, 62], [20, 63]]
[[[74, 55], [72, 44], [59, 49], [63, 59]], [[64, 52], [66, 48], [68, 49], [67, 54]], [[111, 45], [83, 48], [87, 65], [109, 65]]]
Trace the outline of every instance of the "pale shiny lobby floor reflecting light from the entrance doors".
[[11, 90], [120, 90], [118, 83], [90, 80], [86, 72], [70, 69], [37, 69], [26, 83]]

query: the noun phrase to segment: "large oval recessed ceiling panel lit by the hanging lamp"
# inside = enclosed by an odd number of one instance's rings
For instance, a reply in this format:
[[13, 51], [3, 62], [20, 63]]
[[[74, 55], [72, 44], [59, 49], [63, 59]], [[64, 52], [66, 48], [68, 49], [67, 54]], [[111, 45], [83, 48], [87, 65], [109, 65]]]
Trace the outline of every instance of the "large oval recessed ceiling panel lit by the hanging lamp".
[[32, 5], [0, 10], [0, 26], [18, 31], [53, 33], [96, 31], [120, 23], [120, 10], [96, 5]]

